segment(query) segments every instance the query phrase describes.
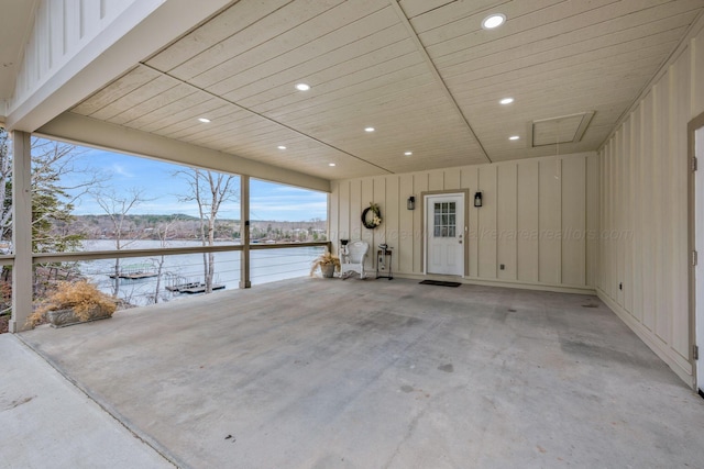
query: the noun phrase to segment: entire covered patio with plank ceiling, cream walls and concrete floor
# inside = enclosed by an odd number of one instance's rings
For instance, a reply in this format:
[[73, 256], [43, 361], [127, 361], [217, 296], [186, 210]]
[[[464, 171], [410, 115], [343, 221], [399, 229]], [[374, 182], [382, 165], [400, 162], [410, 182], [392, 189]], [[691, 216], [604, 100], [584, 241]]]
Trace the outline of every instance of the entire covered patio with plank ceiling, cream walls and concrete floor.
[[[703, 0], [193, 3], [0, 3], [0, 466], [702, 467]], [[241, 289], [29, 331], [34, 265], [147, 255], [33, 250], [33, 137], [241, 177]], [[394, 280], [250, 289], [252, 179]]]

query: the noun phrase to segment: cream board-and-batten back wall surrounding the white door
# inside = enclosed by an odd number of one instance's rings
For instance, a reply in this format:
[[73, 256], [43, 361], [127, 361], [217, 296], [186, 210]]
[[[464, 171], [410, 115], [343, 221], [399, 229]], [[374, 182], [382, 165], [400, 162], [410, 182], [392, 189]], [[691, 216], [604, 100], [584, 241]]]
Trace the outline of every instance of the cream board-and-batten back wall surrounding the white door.
[[[399, 276], [422, 276], [421, 194], [468, 189], [466, 281], [593, 292], [598, 261], [598, 159], [595, 153], [332, 181], [330, 238], [394, 248]], [[474, 208], [481, 191], [483, 206]], [[407, 210], [410, 196], [416, 210]], [[361, 223], [377, 203], [375, 230]], [[366, 269], [375, 269], [375, 256]], [[504, 269], [501, 269], [504, 265]]]

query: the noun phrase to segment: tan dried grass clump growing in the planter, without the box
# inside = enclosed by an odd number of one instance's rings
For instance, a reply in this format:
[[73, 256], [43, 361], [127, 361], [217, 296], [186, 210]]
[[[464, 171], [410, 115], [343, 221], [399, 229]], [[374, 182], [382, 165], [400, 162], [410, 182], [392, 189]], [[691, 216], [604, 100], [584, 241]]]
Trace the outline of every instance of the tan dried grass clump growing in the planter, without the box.
[[64, 281], [59, 282], [56, 290], [30, 315], [29, 323], [32, 326], [41, 324], [50, 311], [72, 310], [79, 321], [85, 322], [90, 320], [96, 311], [112, 316], [117, 309], [118, 304], [112, 297], [98, 290], [95, 284], [86, 280]]

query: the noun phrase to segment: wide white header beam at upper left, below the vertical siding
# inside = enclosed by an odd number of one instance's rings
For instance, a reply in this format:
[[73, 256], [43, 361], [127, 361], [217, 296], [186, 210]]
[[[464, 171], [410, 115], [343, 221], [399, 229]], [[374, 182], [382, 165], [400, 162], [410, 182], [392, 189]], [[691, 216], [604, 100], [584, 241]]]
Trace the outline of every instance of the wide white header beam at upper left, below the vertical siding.
[[131, 5], [31, 96], [14, 103], [8, 110], [8, 126], [34, 132], [231, 3], [200, 0], [195, 9], [191, 0], [155, 1], [162, 4], [139, 24], [139, 12], [130, 9], [139, 9], [140, 2]]

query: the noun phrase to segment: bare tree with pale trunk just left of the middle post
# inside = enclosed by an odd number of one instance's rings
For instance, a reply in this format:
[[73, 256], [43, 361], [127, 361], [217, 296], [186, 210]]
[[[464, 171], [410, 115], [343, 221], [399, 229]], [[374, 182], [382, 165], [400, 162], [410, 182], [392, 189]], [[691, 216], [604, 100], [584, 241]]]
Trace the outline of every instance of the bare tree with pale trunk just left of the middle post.
[[[237, 176], [228, 176], [219, 172], [190, 169], [177, 171], [177, 175], [188, 181], [190, 193], [182, 197], [184, 202], [195, 201], [200, 216], [200, 241], [204, 246], [215, 245], [216, 220], [223, 202], [238, 201]], [[215, 255], [202, 255], [204, 277], [206, 293], [212, 292], [215, 278]]]

